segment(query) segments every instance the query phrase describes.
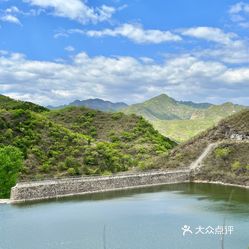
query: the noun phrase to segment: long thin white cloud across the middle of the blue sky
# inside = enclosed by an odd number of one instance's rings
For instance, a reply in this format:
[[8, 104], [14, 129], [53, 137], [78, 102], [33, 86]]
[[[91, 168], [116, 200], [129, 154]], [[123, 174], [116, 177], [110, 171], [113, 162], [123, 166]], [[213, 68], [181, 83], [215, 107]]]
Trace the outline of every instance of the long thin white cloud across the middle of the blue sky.
[[157, 29], [143, 29], [141, 25], [134, 24], [123, 24], [115, 29], [104, 29], [104, 30], [80, 30], [80, 29], [71, 29], [66, 33], [58, 33], [56, 36], [61, 36], [64, 34], [79, 33], [82, 35], [87, 35], [89, 37], [103, 37], [103, 36], [112, 36], [112, 37], [125, 37], [132, 40], [135, 43], [162, 43], [170, 41], [180, 41], [182, 40], [179, 35], [173, 34], [170, 31], [161, 31]]

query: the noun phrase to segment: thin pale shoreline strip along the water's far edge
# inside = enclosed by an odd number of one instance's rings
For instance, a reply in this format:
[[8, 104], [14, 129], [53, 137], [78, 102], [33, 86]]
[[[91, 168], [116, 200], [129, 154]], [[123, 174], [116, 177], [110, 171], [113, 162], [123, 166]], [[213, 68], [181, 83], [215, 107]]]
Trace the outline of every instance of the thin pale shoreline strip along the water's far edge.
[[[204, 183], [204, 184], [215, 184], [215, 185], [221, 185], [221, 186], [230, 186], [230, 187], [237, 187], [237, 188], [243, 188], [243, 189], [249, 189], [249, 185], [240, 185], [240, 184], [233, 184], [233, 183], [226, 183], [221, 181], [205, 181], [205, 180], [192, 180], [192, 181], [181, 181], [181, 182], [171, 182], [171, 183], [158, 183], [158, 184], [146, 184], [146, 185], [140, 185], [140, 186], [124, 186], [121, 188], [113, 188], [113, 189], [102, 189], [97, 191], [88, 191], [83, 193], [71, 193], [68, 195], [59, 195], [56, 197], [50, 197], [47, 196], [43, 199], [40, 198], [34, 198], [32, 201], [43, 201], [43, 200], [49, 200], [49, 199], [61, 199], [64, 197], [76, 197], [76, 196], [83, 196], [86, 194], [98, 194], [103, 192], [112, 192], [112, 191], [125, 191], [129, 189], [138, 189], [138, 188], [145, 188], [145, 187], [154, 187], [154, 186], [163, 186], [163, 185], [169, 185], [169, 184], [181, 184], [181, 183]], [[17, 204], [17, 203], [26, 203], [29, 202], [27, 200], [11, 200], [11, 199], [0, 199], [0, 205], [3, 204]]]

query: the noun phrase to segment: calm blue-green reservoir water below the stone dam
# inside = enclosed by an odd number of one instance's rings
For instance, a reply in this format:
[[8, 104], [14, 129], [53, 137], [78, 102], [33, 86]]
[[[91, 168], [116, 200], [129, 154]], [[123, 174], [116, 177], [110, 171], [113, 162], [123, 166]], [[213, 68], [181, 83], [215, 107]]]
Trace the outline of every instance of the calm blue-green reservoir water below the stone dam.
[[174, 184], [0, 205], [0, 249], [221, 249], [222, 243], [249, 248], [249, 190]]

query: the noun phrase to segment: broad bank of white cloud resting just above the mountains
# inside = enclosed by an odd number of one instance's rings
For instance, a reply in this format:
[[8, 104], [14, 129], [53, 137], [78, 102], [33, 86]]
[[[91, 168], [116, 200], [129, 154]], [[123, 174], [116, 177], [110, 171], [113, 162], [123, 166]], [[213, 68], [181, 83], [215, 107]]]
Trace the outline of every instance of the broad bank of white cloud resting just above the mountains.
[[188, 54], [163, 63], [86, 53], [64, 62], [34, 61], [22, 54], [0, 56], [1, 93], [44, 105], [91, 97], [134, 103], [162, 92], [195, 101], [210, 96], [217, 101], [221, 96], [242, 100], [249, 91], [248, 80], [247, 67], [229, 68]]

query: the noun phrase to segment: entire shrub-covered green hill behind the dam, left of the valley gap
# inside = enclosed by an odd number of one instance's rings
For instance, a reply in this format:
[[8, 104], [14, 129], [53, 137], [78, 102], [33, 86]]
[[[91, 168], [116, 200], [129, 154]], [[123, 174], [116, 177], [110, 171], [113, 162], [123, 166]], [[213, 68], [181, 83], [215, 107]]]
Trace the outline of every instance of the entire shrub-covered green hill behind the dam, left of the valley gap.
[[[152, 158], [176, 145], [136, 115], [85, 107], [43, 112], [32, 103], [5, 101], [6, 108], [0, 108], [0, 147], [22, 152], [22, 180], [152, 168]], [[2, 160], [7, 157], [0, 155]], [[0, 160], [0, 172], [1, 167]]]

